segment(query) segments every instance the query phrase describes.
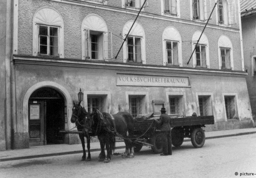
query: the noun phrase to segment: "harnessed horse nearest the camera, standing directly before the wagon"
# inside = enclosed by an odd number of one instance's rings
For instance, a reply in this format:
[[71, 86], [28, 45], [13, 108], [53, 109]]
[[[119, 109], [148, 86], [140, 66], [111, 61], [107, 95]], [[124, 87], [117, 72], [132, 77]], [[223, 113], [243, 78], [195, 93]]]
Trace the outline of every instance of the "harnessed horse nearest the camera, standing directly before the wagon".
[[[132, 135], [134, 127], [134, 119], [128, 112], [118, 112], [114, 115], [103, 112], [101, 113], [98, 109], [92, 113], [90, 118], [85, 121], [85, 127], [91, 128], [92, 132], [102, 136], [99, 139], [102, 146], [106, 145], [107, 155], [105, 157], [105, 151], [101, 152], [101, 159], [105, 158], [104, 162], [110, 162], [112, 154], [113, 137], [118, 136], [124, 139], [125, 152], [122, 154], [122, 158], [134, 158], [134, 147], [132, 144]], [[88, 132], [88, 129], [86, 129]]]

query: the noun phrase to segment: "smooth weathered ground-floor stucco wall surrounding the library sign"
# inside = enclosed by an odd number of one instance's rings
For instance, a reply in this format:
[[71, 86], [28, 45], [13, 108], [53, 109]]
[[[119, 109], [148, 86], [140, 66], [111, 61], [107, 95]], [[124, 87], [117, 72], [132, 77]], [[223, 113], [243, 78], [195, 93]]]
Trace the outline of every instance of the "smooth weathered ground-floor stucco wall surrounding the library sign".
[[[75, 69], [75, 70], [74, 70]], [[17, 90], [17, 132], [23, 132], [23, 99], [27, 90], [42, 81], [52, 81], [63, 86], [69, 93], [72, 100], [77, 100], [79, 88], [83, 91], [105, 91], [110, 92], [111, 102], [108, 104], [110, 113], [126, 111], [125, 92], [146, 92], [149, 98], [148, 112], [153, 112], [152, 100], [163, 100], [168, 105], [166, 93], [182, 92], [184, 96], [185, 114], [198, 113], [197, 93], [210, 93], [213, 98], [213, 115], [216, 122], [226, 122], [224, 111], [224, 93], [236, 95], [237, 112], [239, 120], [250, 122], [251, 110], [247, 93], [246, 80], [242, 77], [232, 76], [204, 76], [196, 74], [178, 74], [178, 76], [189, 76], [191, 88], [182, 87], [145, 87], [145, 86], [117, 86], [115, 69], [97, 68], [73, 68], [43, 65], [17, 65], [16, 66], [16, 90]], [[124, 71], [122, 71], [124, 72]], [[163, 75], [160, 72], [132, 72], [125, 70], [125, 73]], [[164, 73], [164, 75], [177, 76], [177, 73]], [[227, 87], [228, 86], [228, 87]], [[71, 109], [72, 108], [68, 108]], [[70, 118], [68, 118], [70, 119]], [[232, 122], [232, 121], [228, 121]], [[226, 123], [227, 124], [227, 123]], [[220, 126], [219, 126], [220, 127]], [[230, 126], [230, 128], [232, 128]], [[218, 123], [212, 130], [217, 130]], [[223, 129], [223, 126], [222, 126]]]

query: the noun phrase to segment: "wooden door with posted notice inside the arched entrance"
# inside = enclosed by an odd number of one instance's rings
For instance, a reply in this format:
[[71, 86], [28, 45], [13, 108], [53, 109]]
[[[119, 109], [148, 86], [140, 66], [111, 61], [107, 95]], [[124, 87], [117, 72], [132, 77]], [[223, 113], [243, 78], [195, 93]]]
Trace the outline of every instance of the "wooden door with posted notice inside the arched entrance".
[[45, 100], [29, 100], [29, 145], [45, 145]]

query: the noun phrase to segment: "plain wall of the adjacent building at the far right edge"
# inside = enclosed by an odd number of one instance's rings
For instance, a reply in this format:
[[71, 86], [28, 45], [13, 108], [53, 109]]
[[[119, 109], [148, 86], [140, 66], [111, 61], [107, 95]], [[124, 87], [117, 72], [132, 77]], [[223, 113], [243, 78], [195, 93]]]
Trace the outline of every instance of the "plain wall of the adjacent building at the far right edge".
[[[256, 14], [242, 18], [244, 69], [248, 71], [246, 78], [252, 107], [253, 118], [256, 121], [256, 76], [254, 75], [256, 57]], [[254, 69], [253, 69], [254, 68]]]

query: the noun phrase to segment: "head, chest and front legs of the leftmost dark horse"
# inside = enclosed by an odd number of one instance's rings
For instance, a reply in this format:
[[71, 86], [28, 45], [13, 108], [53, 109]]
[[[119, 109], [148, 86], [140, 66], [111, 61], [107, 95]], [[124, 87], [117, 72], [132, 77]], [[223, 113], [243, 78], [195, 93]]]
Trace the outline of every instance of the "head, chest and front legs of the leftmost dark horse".
[[81, 140], [82, 148], [83, 148], [83, 156], [82, 161], [86, 160], [86, 152], [85, 152], [85, 137], [87, 139], [87, 149], [88, 149], [88, 157], [87, 161], [91, 161], [91, 152], [90, 152], [90, 138], [92, 133], [84, 132], [84, 124], [85, 120], [90, 114], [86, 112], [85, 108], [80, 105], [81, 102], [76, 104], [73, 102], [73, 109], [72, 109], [72, 116], [71, 116], [71, 122], [76, 124], [77, 130], [82, 131], [83, 133], [79, 133], [79, 138]]

